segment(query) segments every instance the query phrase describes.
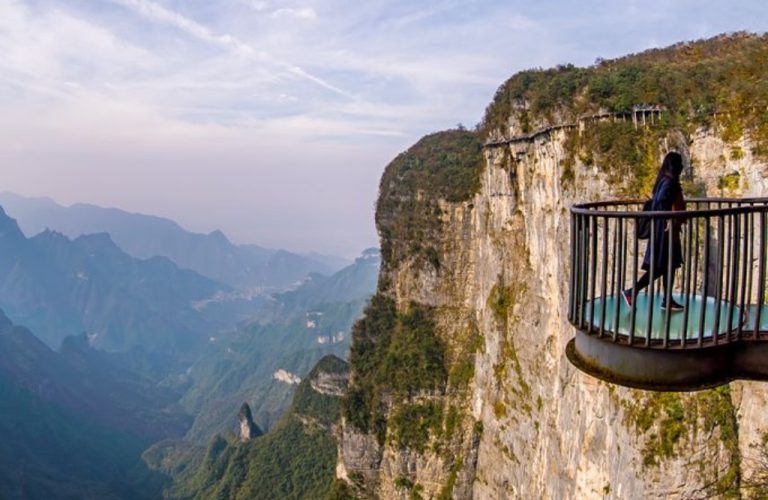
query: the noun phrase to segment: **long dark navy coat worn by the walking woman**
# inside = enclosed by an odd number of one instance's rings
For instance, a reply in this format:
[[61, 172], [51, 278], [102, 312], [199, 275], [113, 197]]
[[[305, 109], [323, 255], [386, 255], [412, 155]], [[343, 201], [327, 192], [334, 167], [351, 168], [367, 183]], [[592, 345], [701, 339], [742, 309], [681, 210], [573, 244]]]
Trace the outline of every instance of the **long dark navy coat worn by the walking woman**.
[[[653, 202], [651, 206], [653, 211], [685, 210], [685, 201], [683, 200], [683, 189], [680, 182], [672, 177], [663, 177], [659, 181], [653, 193]], [[669, 235], [667, 231], [667, 221], [669, 219], [656, 219], [653, 234], [655, 245], [653, 255], [653, 274], [659, 276], [667, 269], [667, 259], [669, 258]], [[682, 221], [682, 219], [678, 219]], [[680, 244], [680, 224], [672, 223], [672, 269], [677, 269], [683, 264], [683, 250]], [[650, 270], [651, 267], [651, 240], [648, 240], [648, 247], [643, 259], [643, 269]]]

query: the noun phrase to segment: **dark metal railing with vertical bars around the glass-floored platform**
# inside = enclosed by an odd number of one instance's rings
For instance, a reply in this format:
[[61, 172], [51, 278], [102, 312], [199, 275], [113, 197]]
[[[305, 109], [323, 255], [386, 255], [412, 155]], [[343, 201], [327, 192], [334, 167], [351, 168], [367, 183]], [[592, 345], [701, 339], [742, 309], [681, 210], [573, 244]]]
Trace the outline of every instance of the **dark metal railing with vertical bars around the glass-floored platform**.
[[[768, 198], [689, 199], [687, 211], [675, 212], [642, 212], [642, 203], [571, 208], [569, 321], [588, 335], [639, 348], [768, 340]], [[644, 219], [650, 237], [639, 240], [638, 223]], [[679, 238], [657, 241], [662, 227], [670, 232], [679, 227]], [[683, 263], [675, 271], [676, 239]], [[651, 262], [664, 255], [662, 244], [668, 245], [666, 272], [649, 266], [650, 284], [631, 294], [627, 305], [622, 291], [632, 289], [645, 272], [646, 252]], [[682, 311], [661, 307], [670, 297]]]

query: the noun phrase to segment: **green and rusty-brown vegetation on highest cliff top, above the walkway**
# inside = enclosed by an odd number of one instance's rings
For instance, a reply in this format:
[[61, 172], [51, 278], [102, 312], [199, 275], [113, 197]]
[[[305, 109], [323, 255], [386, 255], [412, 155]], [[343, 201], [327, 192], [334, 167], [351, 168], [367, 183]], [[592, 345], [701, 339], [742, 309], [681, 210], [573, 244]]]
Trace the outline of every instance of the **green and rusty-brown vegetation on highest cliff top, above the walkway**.
[[[627, 112], [659, 104], [671, 124], [727, 123], [753, 131], [762, 153], [768, 146], [768, 35], [739, 32], [630, 54], [513, 75], [496, 92], [480, 124], [484, 136], [506, 131], [510, 117], [523, 132], [601, 112]], [[731, 135], [738, 137], [739, 130]], [[755, 134], [756, 132], [756, 134]]]

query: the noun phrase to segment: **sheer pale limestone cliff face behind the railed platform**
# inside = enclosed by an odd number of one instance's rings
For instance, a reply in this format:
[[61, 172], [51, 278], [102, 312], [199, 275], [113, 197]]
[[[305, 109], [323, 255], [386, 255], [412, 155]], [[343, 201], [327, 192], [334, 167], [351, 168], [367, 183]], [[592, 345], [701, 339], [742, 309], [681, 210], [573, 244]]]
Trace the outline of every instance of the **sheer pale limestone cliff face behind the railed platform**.
[[[584, 133], [559, 130], [484, 148], [479, 189], [465, 201], [445, 201], [428, 187], [412, 190], [408, 201], [387, 188], [403, 177], [388, 181], [385, 174], [382, 196], [397, 203], [385, 212], [380, 202], [377, 215], [385, 249], [380, 293], [399, 311], [413, 303], [431, 307], [447, 369], [453, 373], [469, 353], [474, 370], [466, 386], [448, 377], [438, 389], [385, 396], [384, 439], [343, 426], [337, 472], [359, 492], [691, 498], [737, 491], [751, 474], [750, 457], [768, 431], [765, 385], [650, 393], [600, 382], [565, 357], [573, 336], [568, 207], [623, 197], [638, 185], [610, 164], [585, 165], [592, 155], [583, 148], [574, 155], [574, 134]], [[665, 131], [652, 160], [660, 164], [672, 147], [690, 158], [689, 185], [700, 192], [768, 193], [766, 163], [744, 138], [725, 143], [716, 130]], [[413, 213], [425, 200], [434, 205], [434, 221], [417, 229]], [[394, 415], [425, 400], [439, 403], [439, 423], [417, 418], [429, 429], [427, 445], [403, 446]]]

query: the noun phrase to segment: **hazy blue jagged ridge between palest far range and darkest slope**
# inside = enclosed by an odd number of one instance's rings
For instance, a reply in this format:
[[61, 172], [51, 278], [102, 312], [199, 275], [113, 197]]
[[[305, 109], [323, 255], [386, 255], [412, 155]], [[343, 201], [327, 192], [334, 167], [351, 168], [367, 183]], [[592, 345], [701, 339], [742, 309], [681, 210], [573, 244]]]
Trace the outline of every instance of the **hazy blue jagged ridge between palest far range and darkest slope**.
[[107, 350], [194, 352], [227, 325], [193, 305], [229, 290], [167, 258], [131, 257], [104, 233], [26, 238], [0, 208], [0, 307], [51, 347], [85, 332]]

